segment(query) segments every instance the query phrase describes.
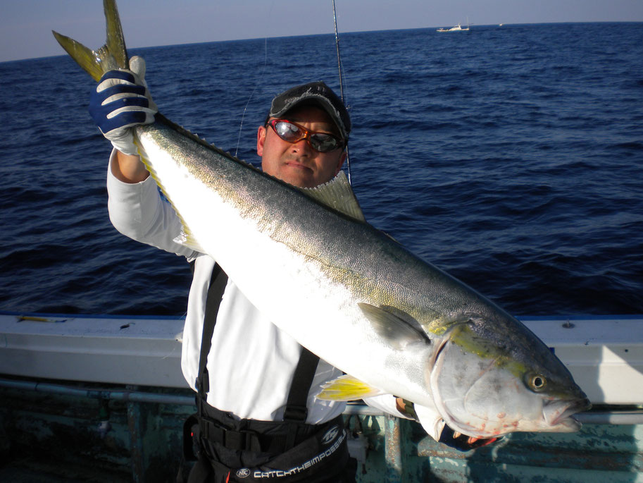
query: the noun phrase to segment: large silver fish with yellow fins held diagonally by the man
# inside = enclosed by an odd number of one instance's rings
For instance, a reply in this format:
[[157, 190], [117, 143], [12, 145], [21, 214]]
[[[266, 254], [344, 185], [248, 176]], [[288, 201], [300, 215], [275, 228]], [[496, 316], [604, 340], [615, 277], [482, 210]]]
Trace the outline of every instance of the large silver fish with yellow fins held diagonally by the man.
[[[116, 5], [107, 44], [57, 34], [98, 80], [127, 68]], [[589, 408], [570, 372], [523, 324], [364, 221], [344, 176], [300, 190], [158, 114], [135, 128], [147, 169], [185, 229], [282, 330], [348, 375], [318, 397], [390, 393], [487, 438], [571, 432]]]

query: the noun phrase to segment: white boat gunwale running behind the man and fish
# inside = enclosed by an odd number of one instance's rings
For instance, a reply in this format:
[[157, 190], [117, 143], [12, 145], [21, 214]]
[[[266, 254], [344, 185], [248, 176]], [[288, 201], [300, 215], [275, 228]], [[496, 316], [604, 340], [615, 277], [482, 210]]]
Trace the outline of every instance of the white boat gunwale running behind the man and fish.
[[[643, 315], [519, 317], [592, 404], [643, 403]], [[0, 374], [187, 389], [181, 317], [0, 313]]]

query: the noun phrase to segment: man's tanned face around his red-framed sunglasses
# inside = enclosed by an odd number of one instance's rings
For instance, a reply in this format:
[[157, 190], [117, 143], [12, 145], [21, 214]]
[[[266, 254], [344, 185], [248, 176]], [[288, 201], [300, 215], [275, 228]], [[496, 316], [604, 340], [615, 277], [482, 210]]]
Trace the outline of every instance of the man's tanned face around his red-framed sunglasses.
[[[308, 130], [338, 135], [337, 127], [323, 109], [302, 106], [292, 109], [282, 118]], [[308, 140], [294, 144], [284, 141], [270, 126], [260, 126], [257, 132], [257, 154], [265, 173], [300, 188], [314, 188], [330, 181], [342, 168], [346, 152], [342, 148], [318, 152]]]

